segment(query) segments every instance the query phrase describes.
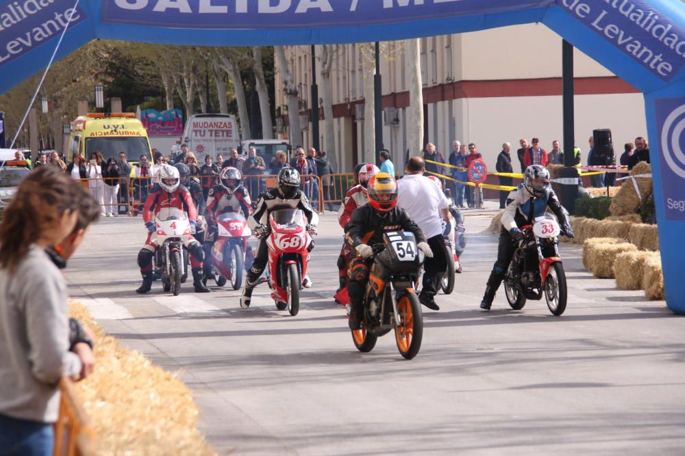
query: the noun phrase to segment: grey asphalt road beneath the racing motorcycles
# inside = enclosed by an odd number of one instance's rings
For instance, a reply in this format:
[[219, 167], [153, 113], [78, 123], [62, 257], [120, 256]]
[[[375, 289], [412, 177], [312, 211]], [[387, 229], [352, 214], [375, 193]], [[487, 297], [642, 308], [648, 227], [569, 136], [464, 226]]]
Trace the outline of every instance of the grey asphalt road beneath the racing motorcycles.
[[342, 230], [322, 218], [312, 289], [297, 317], [266, 284], [252, 307], [238, 291], [140, 296], [140, 217], [103, 219], [69, 264], [71, 295], [123, 345], [182, 379], [220, 454], [685, 454], [685, 320], [640, 291], [590, 276], [562, 246], [569, 306], [478, 304], [497, 237], [490, 211], [467, 211], [455, 291], [425, 309], [421, 351], [399, 356], [392, 334], [353, 346], [334, 304]]

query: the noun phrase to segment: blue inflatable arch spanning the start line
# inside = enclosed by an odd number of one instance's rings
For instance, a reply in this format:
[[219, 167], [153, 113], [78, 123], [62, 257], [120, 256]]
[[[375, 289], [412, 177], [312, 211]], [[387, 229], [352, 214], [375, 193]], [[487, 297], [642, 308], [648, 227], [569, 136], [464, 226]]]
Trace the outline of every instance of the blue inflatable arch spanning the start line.
[[5, 0], [0, 93], [95, 38], [221, 46], [543, 23], [645, 96], [666, 300], [685, 314], [685, 5], [678, 0]]

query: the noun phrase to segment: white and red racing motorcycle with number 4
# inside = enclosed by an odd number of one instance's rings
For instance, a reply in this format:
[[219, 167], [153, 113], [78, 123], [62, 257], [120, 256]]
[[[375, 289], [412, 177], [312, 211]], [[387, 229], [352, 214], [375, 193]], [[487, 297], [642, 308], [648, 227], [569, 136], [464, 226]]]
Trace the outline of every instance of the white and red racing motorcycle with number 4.
[[184, 243], [192, 236], [190, 221], [185, 211], [164, 208], [155, 215], [155, 269], [162, 273], [164, 291], [177, 296], [184, 277], [188, 277], [188, 250]]

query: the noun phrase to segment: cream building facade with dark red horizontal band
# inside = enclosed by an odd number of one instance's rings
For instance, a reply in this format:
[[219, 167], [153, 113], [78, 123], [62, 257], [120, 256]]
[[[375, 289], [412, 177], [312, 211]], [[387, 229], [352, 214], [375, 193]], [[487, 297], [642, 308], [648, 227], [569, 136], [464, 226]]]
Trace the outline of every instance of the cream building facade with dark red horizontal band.
[[[516, 25], [471, 33], [421, 38], [424, 141], [432, 142], [445, 159], [452, 142], [473, 142], [488, 167], [495, 167], [503, 142], [514, 150], [519, 139], [539, 137], [547, 150], [562, 141], [562, 40], [544, 25]], [[316, 46], [317, 83], [321, 97], [321, 46]], [[290, 64], [300, 98], [301, 139], [288, 129], [280, 71], [276, 71], [277, 133], [293, 145], [312, 144], [311, 48], [288, 46]], [[374, 144], [364, 140], [364, 81], [373, 79], [373, 47], [369, 44], [335, 46], [331, 85], [334, 144], [328, 150], [346, 172], [374, 156]], [[409, 105], [405, 42], [381, 45], [383, 143], [397, 169], [408, 155], [406, 108]], [[580, 51], [574, 56], [575, 143], [586, 163], [588, 137], [593, 129], [612, 129], [614, 150], [636, 136], [647, 136], [643, 96]], [[368, 89], [367, 89], [368, 92]], [[320, 144], [325, 148], [321, 98]]]

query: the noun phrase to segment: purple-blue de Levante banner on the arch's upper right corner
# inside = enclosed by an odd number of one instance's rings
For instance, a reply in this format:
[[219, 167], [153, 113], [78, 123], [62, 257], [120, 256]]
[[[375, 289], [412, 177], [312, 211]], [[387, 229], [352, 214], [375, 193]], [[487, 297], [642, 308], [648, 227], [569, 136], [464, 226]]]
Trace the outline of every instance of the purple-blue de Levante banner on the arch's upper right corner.
[[670, 81], [685, 64], [683, 29], [650, 2], [556, 0], [556, 3], [663, 81]]

